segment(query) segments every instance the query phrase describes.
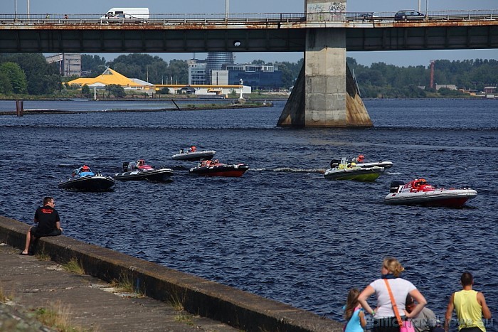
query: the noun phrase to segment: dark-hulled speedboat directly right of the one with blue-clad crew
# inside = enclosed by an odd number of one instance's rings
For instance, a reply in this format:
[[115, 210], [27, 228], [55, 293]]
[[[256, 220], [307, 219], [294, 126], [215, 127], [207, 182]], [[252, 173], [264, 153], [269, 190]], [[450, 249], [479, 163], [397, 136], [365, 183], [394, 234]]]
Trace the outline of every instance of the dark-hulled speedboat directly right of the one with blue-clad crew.
[[145, 164], [144, 159], [139, 159], [136, 163], [124, 161], [122, 173], [116, 173], [113, 177], [115, 180], [121, 181], [149, 180], [164, 182], [169, 181], [169, 178], [172, 175], [173, 170], [171, 168], [166, 168], [164, 166], [154, 168], [153, 166]]

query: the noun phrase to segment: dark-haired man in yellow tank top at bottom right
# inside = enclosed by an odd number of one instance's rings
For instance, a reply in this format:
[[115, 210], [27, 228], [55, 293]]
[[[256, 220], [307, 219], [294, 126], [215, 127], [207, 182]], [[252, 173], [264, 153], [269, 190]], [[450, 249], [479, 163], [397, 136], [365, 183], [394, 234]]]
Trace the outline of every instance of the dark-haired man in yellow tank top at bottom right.
[[470, 272], [463, 272], [460, 277], [461, 291], [451, 295], [445, 315], [445, 331], [450, 327], [453, 310], [457, 311], [459, 332], [486, 332], [482, 318], [491, 319], [491, 311], [486, 304], [486, 299], [480, 291], [472, 289], [474, 277]]

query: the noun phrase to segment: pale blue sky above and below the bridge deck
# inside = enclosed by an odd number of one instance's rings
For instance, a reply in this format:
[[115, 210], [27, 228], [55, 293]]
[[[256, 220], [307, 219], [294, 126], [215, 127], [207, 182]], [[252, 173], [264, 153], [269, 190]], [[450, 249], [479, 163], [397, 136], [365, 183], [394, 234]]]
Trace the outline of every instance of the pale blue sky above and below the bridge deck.
[[[329, 0], [333, 2], [334, 0]], [[264, 13], [302, 13], [304, 0], [1, 0], [0, 14], [26, 14], [29, 3], [31, 14], [105, 14], [112, 7], [148, 7], [151, 14], [224, 14], [228, 2], [228, 11], [237, 14]], [[324, 0], [327, 2], [327, 0]], [[498, 9], [498, 0], [348, 0], [348, 12], [396, 12], [400, 9], [420, 11], [451, 11]], [[381, 16], [381, 15], [378, 15]], [[87, 53], [97, 54], [97, 53]], [[98, 53], [110, 61], [124, 53]], [[187, 60], [194, 58], [193, 53], [150, 53], [159, 55], [164, 60]], [[285, 53], [235, 53], [236, 63], [249, 63], [252, 60], [297, 62], [302, 52]], [[355, 58], [361, 65], [383, 62], [407, 67], [410, 65], [428, 66], [430, 60], [498, 60], [498, 49], [491, 50], [412, 50], [412, 51], [370, 51], [348, 52], [348, 57]], [[206, 53], [196, 53], [195, 58], [204, 59]]]

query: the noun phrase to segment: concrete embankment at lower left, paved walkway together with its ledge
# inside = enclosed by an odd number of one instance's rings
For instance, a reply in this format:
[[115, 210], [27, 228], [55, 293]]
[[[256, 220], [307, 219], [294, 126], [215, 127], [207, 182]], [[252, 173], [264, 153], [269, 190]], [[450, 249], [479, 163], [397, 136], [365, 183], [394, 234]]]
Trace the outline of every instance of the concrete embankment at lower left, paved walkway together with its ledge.
[[[6, 249], [0, 255], [3, 294], [35, 307], [58, 302], [60, 308], [67, 308], [66, 314], [78, 325], [90, 324], [97, 331], [101, 328], [103, 331], [235, 331], [234, 328], [290, 332], [342, 330], [341, 323], [309, 311], [114, 250], [88, 245], [64, 235], [42, 237], [38, 241], [33, 252], [42, 260], [21, 256], [18, 252], [23, 247], [27, 230], [28, 225], [0, 216], [0, 242], [18, 248]], [[68, 275], [58, 271], [49, 267], [52, 266], [50, 261], [58, 264], [75, 262], [85, 275]], [[89, 281], [90, 276], [103, 282], [129, 284], [132, 293], [138, 295], [126, 295], [126, 301], [111, 298], [101, 290], [105, 286], [92, 286], [97, 282]], [[37, 290], [33, 289], [33, 285]], [[150, 304], [152, 299], [160, 302]], [[169, 303], [170, 309], [166, 309], [164, 303]], [[201, 328], [189, 328], [189, 324], [172, 319], [171, 313], [178, 315], [171, 309], [172, 306], [181, 307], [182, 311], [194, 318], [199, 317], [199, 320], [209, 318], [212, 321], [200, 323]], [[213, 321], [223, 325], [213, 328]], [[181, 330], [179, 323], [184, 324]], [[203, 328], [203, 325], [211, 327]], [[196, 327], [195, 322], [193, 327]]]

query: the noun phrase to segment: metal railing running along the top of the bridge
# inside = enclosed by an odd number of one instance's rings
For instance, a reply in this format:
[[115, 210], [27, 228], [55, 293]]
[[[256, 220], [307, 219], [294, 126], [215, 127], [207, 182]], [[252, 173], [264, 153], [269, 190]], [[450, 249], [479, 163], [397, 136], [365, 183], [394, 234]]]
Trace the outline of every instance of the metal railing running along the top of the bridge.
[[[237, 24], [237, 23], [375, 23], [393, 22], [396, 12], [266, 13], [266, 14], [150, 14], [149, 18], [104, 18], [102, 14], [0, 14], [0, 24]], [[420, 21], [498, 20], [498, 9], [430, 11]], [[419, 20], [417, 20], [419, 21]]]

